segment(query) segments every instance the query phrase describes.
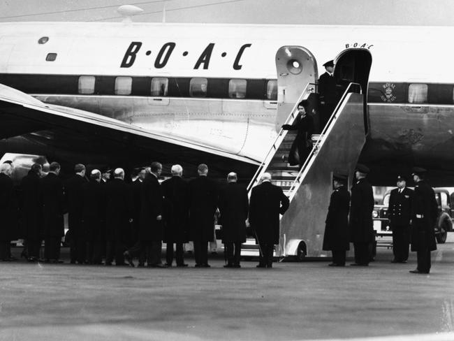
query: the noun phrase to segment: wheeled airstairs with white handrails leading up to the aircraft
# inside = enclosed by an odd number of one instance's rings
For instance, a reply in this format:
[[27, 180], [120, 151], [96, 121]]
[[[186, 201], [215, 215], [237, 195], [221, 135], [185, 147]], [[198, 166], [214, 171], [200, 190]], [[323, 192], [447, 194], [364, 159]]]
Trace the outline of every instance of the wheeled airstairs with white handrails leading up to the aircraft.
[[[345, 56], [346, 53], [342, 53], [336, 59], [341, 66], [343, 60], [349, 61]], [[367, 77], [368, 75], [367, 71]], [[346, 80], [342, 80], [345, 86]], [[349, 82], [321, 134], [313, 136], [312, 152], [302, 167], [291, 167], [284, 161], [283, 156], [288, 155], [295, 134], [280, 129], [263, 163], [249, 183], [250, 193], [251, 189], [260, 183], [263, 173], [270, 173], [272, 183], [281, 187], [290, 199], [290, 207], [281, 216], [279, 245], [275, 249], [275, 256], [296, 256], [297, 259], [305, 256], [327, 256], [322, 250], [322, 244], [332, 193], [332, 174], [348, 174], [350, 184], [358, 157], [365, 145], [367, 107], [362, 90], [364, 87], [367, 89], [367, 80], [365, 83]], [[293, 124], [298, 115], [298, 103], [302, 99], [308, 99], [313, 88], [314, 84], [307, 82], [300, 95], [294, 97], [296, 101], [293, 106], [288, 103], [282, 106], [287, 110], [286, 119], [279, 122], [279, 125]], [[282, 111], [279, 113], [278, 107], [278, 120], [285, 116]], [[253, 240], [248, 240], [243, 245], [242, 255], [258, 255], [258, 246]]]

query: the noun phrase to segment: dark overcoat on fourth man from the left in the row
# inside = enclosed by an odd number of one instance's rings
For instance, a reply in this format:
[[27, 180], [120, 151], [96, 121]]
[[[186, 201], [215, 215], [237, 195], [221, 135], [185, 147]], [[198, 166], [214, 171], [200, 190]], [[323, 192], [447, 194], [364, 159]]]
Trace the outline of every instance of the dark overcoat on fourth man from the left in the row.
[[84, 209], [84, 186], [87, 183], [84, 177], [73, 175], [64, 184], [66, 204], [68, 208], [68, 228], [73, 238], [84, 238], [86, 231], [82, 226]]

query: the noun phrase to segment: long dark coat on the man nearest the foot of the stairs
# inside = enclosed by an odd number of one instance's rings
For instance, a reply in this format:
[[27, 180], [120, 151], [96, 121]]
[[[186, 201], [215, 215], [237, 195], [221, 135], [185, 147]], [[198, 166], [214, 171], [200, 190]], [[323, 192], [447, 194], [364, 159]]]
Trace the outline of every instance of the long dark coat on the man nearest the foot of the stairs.
[[249, 223], [258, 242], [279, 244], [279, 214], [284, 215], [290, 202], [282, 191], [269, 181], [254, 187], [249, 202]]

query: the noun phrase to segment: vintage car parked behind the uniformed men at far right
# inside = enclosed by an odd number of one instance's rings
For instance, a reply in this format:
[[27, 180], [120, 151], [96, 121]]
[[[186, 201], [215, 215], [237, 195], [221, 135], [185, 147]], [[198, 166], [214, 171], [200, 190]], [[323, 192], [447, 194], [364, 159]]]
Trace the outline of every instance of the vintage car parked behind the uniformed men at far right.
[[[444, 188], [435, 188], [435, 199], [438, 203], [439, 214], [437, 224], [434, 226], [435, 238], [439, 244], [446, 242], [448, 231], [453, 231], [453, 203], [449, 191]], [[388, 220], [388, 204], [390, 190], [383, 196], [383, 203], [375, 205], [372, 217], [374, 219], [374, 231], [376, 233], [377, 246], [391, 247], [393, 245], [393, 231]]]

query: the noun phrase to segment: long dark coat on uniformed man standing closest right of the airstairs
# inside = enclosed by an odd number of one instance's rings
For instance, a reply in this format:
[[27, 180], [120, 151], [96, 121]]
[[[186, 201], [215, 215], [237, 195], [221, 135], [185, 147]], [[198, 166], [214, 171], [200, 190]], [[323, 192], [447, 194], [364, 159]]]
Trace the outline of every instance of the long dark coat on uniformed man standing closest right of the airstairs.
[[332, 192], [323, 236], [324, 250], [348, 250], [350, 193], [345, 186]]

